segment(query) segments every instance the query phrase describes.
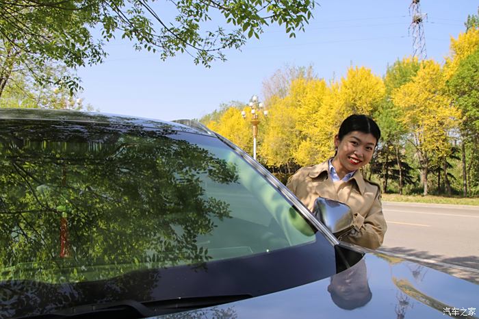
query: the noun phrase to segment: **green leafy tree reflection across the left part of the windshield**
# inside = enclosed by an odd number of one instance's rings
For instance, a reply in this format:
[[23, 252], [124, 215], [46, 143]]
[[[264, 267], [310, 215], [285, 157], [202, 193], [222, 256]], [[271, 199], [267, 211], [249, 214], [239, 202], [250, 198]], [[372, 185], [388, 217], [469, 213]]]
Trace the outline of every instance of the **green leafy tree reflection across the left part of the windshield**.
[[1, 279], [92, 281], [209, 259], [196, 237], [235, 166], [171, 130], [52, 123], [0, 133]]

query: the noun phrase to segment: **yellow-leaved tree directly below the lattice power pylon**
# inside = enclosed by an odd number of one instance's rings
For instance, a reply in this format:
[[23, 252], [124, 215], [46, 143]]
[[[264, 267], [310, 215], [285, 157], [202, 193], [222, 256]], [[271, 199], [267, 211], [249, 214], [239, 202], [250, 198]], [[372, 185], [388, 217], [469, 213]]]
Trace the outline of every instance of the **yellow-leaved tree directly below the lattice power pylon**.
[[422, 62], [411, 81], [393, 90], [392, 99], [411, 133], [409, 142], [417, 151], [426, 195], [430, 159], [446, 157], [451, 151], [449, 134], [457, 127], [461, 112], [446, 94], [445, 73], [432, 60]]

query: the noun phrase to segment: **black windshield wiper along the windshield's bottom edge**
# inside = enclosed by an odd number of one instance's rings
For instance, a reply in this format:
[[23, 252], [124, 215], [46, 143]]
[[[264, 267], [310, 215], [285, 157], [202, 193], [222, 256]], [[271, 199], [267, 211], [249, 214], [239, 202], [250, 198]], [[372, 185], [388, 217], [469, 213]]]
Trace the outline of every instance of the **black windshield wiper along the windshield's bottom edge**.
[[80, 305], [61, 309], [49, 314], [21, 317], [29, 319], [60, 319], [60, 318], [146, 318], [163, 314], [172, 314], [179, 311], [212, 307], [223, 303], [232, 303], [246, 298], [250, 294], [224, 295], [224, 296], [200, 296], [189, 298], [174, 298], [161, 301], [144, 301], [142, 303], [133, 300], [116, 301], [114, 303], [100, 303], [97, 305]]

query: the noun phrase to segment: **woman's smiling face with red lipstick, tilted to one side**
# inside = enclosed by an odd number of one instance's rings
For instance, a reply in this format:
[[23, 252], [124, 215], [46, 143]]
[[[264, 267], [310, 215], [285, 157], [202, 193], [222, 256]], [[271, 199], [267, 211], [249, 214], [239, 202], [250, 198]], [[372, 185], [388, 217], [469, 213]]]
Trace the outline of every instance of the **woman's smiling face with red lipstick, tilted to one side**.
[[337, 170], [340, 170], [341, 173], [348, 173], [365, 166], [370, 162], [377, 142], [372, 133], [360, 131], [352, 131], [346, 134], [342, 140], [335, 136], [335, 146], [337, 147], [335, 163], [339, 164]]

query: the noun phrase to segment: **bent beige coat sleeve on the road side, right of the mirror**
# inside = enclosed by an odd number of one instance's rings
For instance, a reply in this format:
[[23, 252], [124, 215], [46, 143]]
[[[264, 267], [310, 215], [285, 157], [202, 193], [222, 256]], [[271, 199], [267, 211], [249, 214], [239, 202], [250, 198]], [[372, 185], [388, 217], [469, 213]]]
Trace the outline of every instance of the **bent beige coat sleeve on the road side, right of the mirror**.
[[370, 212], [366, 216], [354, 214], [354, 228], [339, 238], [370, 249], [376, 249], [383, 244], [387, 230], [386, 220], [381, 205], [380, 189], [376, 191]]

